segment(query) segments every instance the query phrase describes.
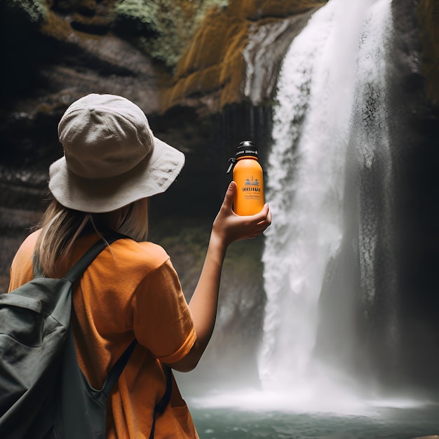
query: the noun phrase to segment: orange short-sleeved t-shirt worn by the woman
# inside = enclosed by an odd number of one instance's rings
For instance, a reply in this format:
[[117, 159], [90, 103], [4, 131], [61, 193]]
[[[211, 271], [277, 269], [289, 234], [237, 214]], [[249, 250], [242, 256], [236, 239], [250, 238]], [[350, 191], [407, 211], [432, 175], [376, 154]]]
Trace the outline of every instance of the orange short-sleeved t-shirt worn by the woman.
[[[11, 266], [9, 290], [33, 277], [32, 255], [39, 231], [29, 235]], [[79, 238], [63, 276], [97, 235]], [[121, 239], [105, 248], [74, 285], [74, 328], [79, 365], [90, 384], [104, 379], [128, 344], [139, 342], [107, 403], [107, 438], [149, 438], [154, 405], [166, 379], [159, 360], [174, 363], [196, 335], [189, 307], [169, 256], [159, 245]], [[186, 403], [173, 380], [165, 412], [156, 418], [155, 437], [198, 438]]]

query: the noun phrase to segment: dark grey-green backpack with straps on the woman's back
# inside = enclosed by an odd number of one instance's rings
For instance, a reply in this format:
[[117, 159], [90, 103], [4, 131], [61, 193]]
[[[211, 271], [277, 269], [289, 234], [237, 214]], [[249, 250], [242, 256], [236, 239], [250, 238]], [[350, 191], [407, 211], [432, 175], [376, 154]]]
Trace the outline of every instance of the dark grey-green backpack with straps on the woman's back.
[[[107, 236], [113, 243], [120, 234]], [[104, 439], [107, 397], [119, 379], [137, 341], [128, 346], [109, 372], [102, 389], [93, 389], [76, 358], [70, 325], [72, 283], [107, 246], [97, 241], [61, 279], [34, 277], [20, 288], [0, 295], [0, 438]], [[35, 273], [34, 268], [34, 273]], [[166, 393], [154, 407], [168, 405]]]

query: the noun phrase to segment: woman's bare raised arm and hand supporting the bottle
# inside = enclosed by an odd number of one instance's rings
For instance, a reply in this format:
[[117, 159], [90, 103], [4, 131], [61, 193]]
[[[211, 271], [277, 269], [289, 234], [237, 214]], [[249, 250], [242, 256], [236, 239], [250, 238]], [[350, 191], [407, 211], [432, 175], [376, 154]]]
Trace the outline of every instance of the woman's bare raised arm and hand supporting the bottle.
[[240, 217], [232, 210], [236, 191], [235, 182], [229, 184], [222, 206], [212, 225], [212, 232], [194, 295], [189, 302], [196, 331], [196, 342], [191, 351], [170, 366], [180, 372], [194, 369], [212, 336], [217, 316], [219, 281], [227, 247], [234, 241], [255, 238], [271, 224], [269, 205], [256, 215]]

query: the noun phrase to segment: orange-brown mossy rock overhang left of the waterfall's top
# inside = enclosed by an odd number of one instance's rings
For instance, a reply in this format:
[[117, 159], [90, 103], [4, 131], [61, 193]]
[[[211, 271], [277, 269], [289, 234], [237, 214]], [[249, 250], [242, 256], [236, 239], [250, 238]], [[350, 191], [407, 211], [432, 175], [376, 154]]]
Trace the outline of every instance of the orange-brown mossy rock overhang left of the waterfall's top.
[[212, 112], [241, 102], [246, 69], [243, 51], [250, 30], [323, 6], [326, 1], [230, 0], [222, 11], [213, 8], [178, 62], [173, 83], [164, 90], [162, 111], [175, 104], [190, 104], [195, 90], [199, 94], [217, 92], [209, 100]]

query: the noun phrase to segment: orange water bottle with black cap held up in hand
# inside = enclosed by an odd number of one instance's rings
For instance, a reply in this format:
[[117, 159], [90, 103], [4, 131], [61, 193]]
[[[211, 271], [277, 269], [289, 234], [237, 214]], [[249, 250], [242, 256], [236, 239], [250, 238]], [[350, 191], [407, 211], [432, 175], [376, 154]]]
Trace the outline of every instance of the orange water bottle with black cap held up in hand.
[[227, 173], [233, 168], [236, 182], [234, 212], [236, 215], [255, 215], [264, 207], [264, 174], [257, 160], [257, 147], [250, 140], [241, 142]]

